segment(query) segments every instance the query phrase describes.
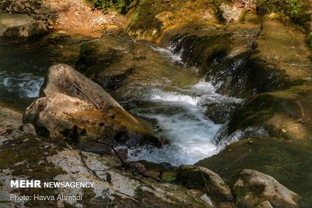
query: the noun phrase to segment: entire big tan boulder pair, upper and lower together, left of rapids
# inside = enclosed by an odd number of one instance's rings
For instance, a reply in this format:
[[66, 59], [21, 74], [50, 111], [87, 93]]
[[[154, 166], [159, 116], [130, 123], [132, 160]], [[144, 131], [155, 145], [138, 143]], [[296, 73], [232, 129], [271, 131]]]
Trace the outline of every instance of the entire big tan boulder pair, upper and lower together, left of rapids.
[[[103, 88], [65, 64], [51, 66], [41, 88], [41, 96], [27, 109], [24, 123], [32, 123], [37, 133], [70, 143], [96, 138], [112, 145], [161, 147], [158, 138]], [[85, 150], [98, 152], [98, 146]], [[107, 148], [104, 148], [107, 149]]]

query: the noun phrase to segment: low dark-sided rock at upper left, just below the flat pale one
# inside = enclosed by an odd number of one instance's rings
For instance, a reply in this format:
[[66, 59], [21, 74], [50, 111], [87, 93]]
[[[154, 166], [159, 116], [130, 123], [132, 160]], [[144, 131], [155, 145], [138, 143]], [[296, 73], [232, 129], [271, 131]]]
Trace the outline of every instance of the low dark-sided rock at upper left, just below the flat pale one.
[[3, 33], [2, 37], [5, 39], [25, 40], [42, 36], [47, 32], [48, 31], [42, 22], [34, 22], [8, 28], [8, 30]]

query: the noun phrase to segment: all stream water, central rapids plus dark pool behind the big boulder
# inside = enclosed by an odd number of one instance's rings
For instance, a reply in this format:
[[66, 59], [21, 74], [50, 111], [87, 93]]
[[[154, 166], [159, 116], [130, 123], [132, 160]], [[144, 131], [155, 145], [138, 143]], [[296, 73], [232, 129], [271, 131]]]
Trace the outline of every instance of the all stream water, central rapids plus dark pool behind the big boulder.
[[[120, 80], [115, 79], [115, 82], [110, 81], [115, 87], [107, 90], [168, 143], [161, 149], [151, 146], [132, 148], [128, 151], [129, 159], [167, 162], [177, 166], [194, 164], [216, 154], [220, 148], [212, 143], [212, 139], [221, 123], [216, 124], [204, 115], [205, 105], [241, 103], [242, 100], [217, 94], [216, 86], [199, 80], [197, 69], [183, 64], [181, 58], [170, 50], [148, 42], [113, 40], [115, 49], [120, 52], [133, 47], [143, 48], [137, 55], [144, 55], [144, 58], [135, 60], [134, 66], [131, 62], [134, 72], [127, 75], [121, 86]], [[0, 98], [38, 97], [47, 68], [59, 62], [73, 65], [79, 58], [79, 45], [55, 45], [43, 39], [1, 46]], [[129, 58], [124, 59], [127, 62], [119, 61], [119, 69], [128, 67]], [[117, 67], [113, 68], [116, 70], [106, 70], [107, 74], [102, 76], [112, 78], [120, 73]]]

